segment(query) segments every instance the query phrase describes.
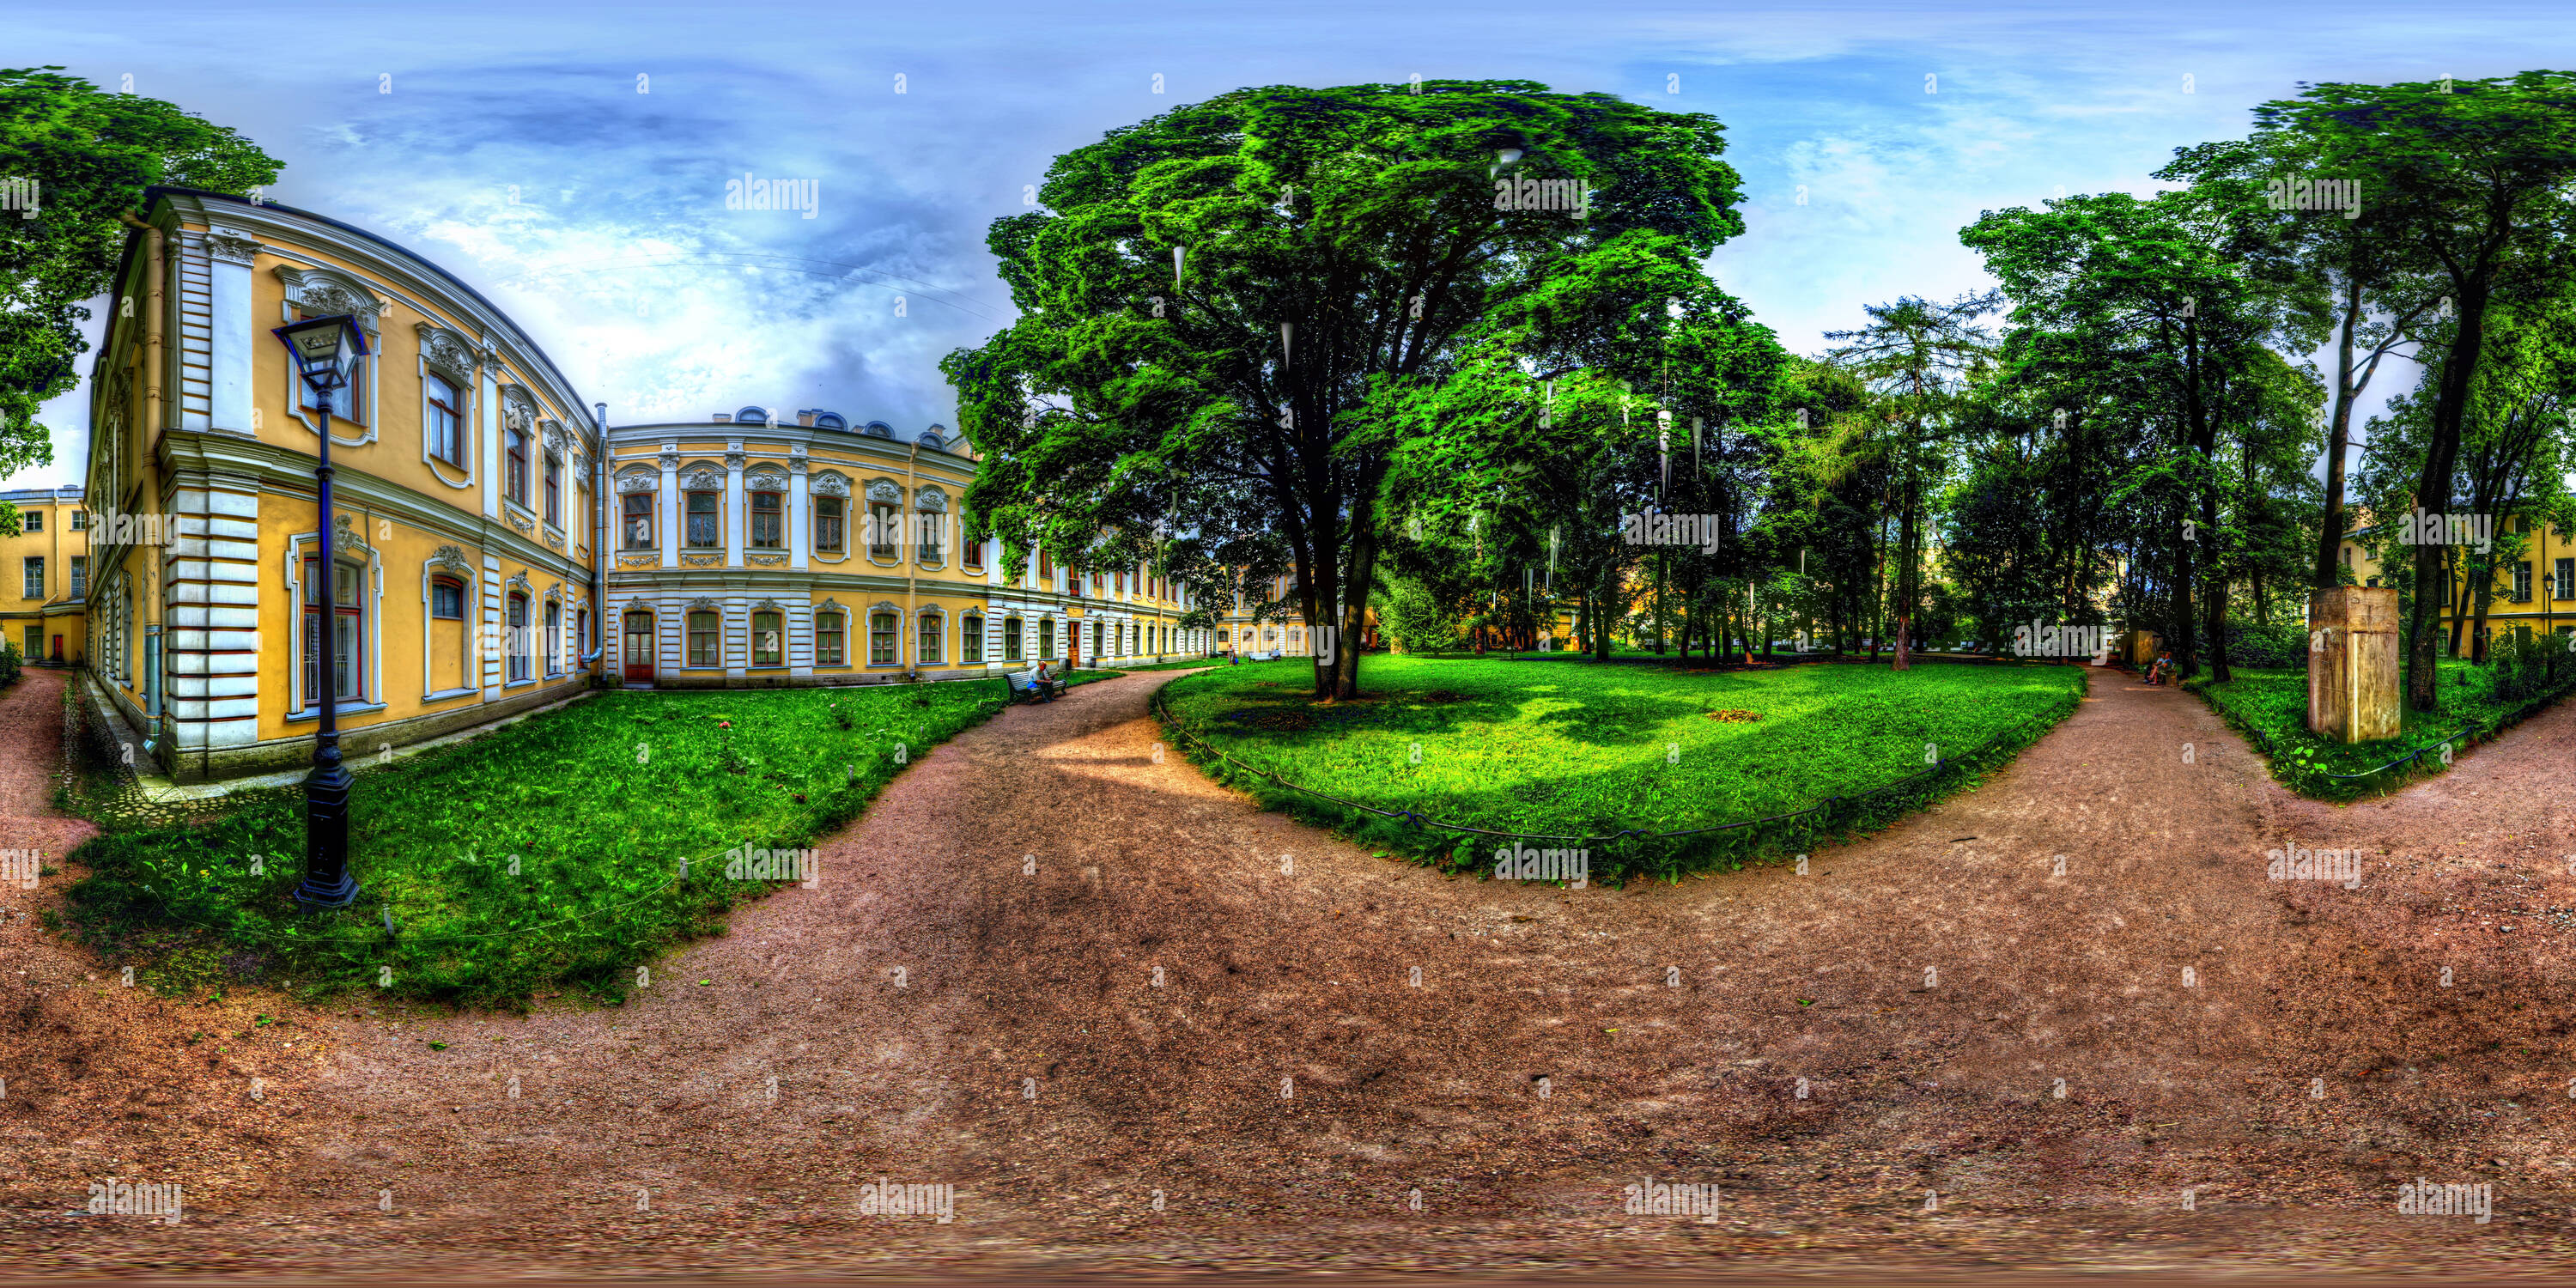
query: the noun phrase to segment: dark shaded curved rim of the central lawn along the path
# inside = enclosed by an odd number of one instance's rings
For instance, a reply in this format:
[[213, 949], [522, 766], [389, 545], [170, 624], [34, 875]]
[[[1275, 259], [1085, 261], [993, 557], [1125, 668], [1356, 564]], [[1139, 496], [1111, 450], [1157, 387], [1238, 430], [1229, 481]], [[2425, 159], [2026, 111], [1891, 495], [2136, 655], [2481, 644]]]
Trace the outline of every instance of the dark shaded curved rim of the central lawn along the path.
[[2022, 750], [2071, 716], [2089, 690], [2089, 683], [2050, 698], [2040, 711], [2002, 729], [1965, 755], [1942, 757], [1935, 765], [1878, 783], [1873, 788], [1826, 796], [1806, 809], [1770, 814], [1759, 819], [1728, 819], [1669, 832], [1620, 829], [1610, 835], [1546, 835], [1507, 832], [1435, 819], [1409, 809], [1386, 809], [1319, 788], [1293, 783], [1278, 773], [1229, 755], [1172, 714], [1162, 685], [1149, 698], [1154, 721], [1172, 737], [1172, 744], [1193, 765], [1218, 783], [1252, 796], [1260, 809], [1275, 809], [1293, 819], [1327, 827], [1352, 842], [1388, 853], [1401, 853], [1414, 863], [1440, 871], [1489, 871], [1494, 850], [1504, 845], [1540, 842], [1546, 848], [1597, 850], [1589, 871], [1600, 881], [1623, 884], [1628, 878], [1677, 881], [1685, 873], [1710, 868], [1744, 868], [1765, 858], [1785, 858], [1819, 842], [1847, 840], [1888, 827], [1955, 791], [1971, 788], [1984, 775], [2009, 765]]

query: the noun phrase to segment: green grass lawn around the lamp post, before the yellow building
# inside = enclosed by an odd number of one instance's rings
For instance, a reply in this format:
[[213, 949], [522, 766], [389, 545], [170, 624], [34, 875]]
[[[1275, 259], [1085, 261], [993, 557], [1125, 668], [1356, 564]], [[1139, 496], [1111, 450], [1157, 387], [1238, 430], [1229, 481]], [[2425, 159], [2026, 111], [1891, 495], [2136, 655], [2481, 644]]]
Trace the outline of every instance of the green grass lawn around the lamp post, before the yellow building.
[[[1072, 683], [1113, 675], [1074, 672]], [[291, 981], [304, 997], [363, 989], [520, 1005], [538, 989], [580, 987], [623, 999], [636, 966], [721, 933], [734, 899], [778, 886], [729, 878], [726, 850], [809, 848], [907, 762], [1002, 703], [1002, 680], [608, 690], [358, 773], [350, 868], [363, 891], [348, 912], [294, 907], [301, 788], [268, 788], [229, 799], [234, 809], [211, 819], [111, 822], [75, 855], [90, 876], [70, 891], [72, 920], [162, 992], [242, 979]]]

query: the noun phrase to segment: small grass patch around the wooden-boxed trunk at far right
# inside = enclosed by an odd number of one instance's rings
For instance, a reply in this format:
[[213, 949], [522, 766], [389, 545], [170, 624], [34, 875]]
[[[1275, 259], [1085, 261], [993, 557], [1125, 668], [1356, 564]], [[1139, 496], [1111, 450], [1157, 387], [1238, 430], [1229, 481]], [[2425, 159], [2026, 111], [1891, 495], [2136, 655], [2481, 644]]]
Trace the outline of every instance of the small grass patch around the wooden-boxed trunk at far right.
[[[2442, 659], [2442, 711], [2406, 711], [2401, 734], [2388, 742], [2326, 742], [2308, 732], [2308, 672], [2231, 667], [2233, 680], [2218, 685], [2208, 677], [2184, 688], [2200, 693], [2239, 732], [2259, 732], [2257, 752], [2267, 752], [2272, 778], [2300, 796], [2321, 801], [2352, 801], [2403, 786], [2421, 773], [2439, 773], [2439, 747], [2452, 752], [2468, 742], [2494, 734], [2501, 726], [2530, 716], [2545, 698], [2527, 693], [2499, 696], [2494, 667], [2481, 667], [2458, 657]], [[2561, 685], [2576, 677], [2576, 667], [2561, 670]], [[2264, 744], [2269, 739], [2269, 747]], [[2414, 762], [2385, 768], [2391, 760], [2427, 752]], [[2378, 773], [2370, 773], [2378, 770]]]

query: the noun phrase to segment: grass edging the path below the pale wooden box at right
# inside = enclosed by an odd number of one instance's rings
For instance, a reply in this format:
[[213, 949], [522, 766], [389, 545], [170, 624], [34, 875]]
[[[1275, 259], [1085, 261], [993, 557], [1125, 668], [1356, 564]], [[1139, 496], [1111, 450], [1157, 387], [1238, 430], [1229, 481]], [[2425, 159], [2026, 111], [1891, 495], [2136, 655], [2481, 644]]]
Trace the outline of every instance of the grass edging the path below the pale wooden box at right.
[[[2452, 659], [2445, 659], [2452, 662]], [[2468, 662], [2463, 662], [2468, 667]], [[2249, 667], [2239, 667], [2244, 672]], [[2184, 680], [2182, 688], [2200, 696], [2200, 701], [2226, 724], [2228, 729], [2244, 734], [2264, 757], [2264, 768], [2272, 770], [2272, 781], [2290, 788], [2311, 801], [2349, 804], [2370, 793], [2391, 793], [2416, 778], [2432, 778], [2450, 768], [2452, 755], [2476, 747], [2481, 742], [2494, 742], [2504, 737], [2506, 729], [2548, 711], [2558, 701], [2576, 693], [2576, 675], [2563, 680], [2558, 688], [2540, 690], [2512, 703], [2486, 703], [2481, 701], [2473, 711], [2445, 708], [2437, 716], [2445, 719], [2437, 729], [2409, 729], [2401, 737], [2385, 742], [2354, 742], [2331, 744], [2306, 726], [2306, 690], [2308, 680], [2303, 672], [2287, 672], [2298, 677], [2300, 708], [2293, 721], [2262, 721], [2246, 693], [2236, 685], [2257, 683], [2272, 685], [2285, 683], [2285, 675], [2257, 672], [2239, 675], [2236, 680], [2218, 685], [2208, 675]], [[2445, 677], [2450, 680], [2450, 677]], [[2458, 683], [2450, 683], [2452, 703], [2460, 696]], [[2401, 698], [2403, 701], [2403, 688]], [[2357, 768], [2360, 773], [2336, 773]]]

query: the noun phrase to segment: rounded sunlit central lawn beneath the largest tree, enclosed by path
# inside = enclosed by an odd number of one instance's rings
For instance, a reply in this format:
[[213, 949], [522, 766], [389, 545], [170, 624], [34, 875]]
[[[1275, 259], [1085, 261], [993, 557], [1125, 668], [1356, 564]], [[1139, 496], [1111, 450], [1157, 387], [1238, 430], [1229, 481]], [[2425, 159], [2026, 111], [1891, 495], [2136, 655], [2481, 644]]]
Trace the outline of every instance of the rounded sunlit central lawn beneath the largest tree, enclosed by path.
[[[1759, 819], [1862, 793], [1924, 770], [1927, 744], [1942, 760], [1984, 750], [1976, 765], [1960, 768], [2009, 760], [2074, 711], [2084, 670], [1924, 665], [1904, 675], [1888, 667], [1687, 675], [1595, 662], [1370, 657], [1360, 665], [1360, 688], [1358, 703], [1314, 706], [1303, 659], [1260, 662], [1172, 680], [1167, 711], [1229, 757], [1347, 801], [1494, 832], [1610, 837]], [[1710, 719], [1721, 711], [1759, 719]], [[2017, 737], [1991, 744], [2017, 726]], [[1229, 770], [1188, 739], [1182, 747], [1262, 804], [1388, 850], [1484, 866], [1484, 855], [1504, 845], [1280, 791]], [[1819, 835], [1883, 824], [1965, 778], [1942, 773], [1832, 817], [1687, 840], [1595, 842], [1592, 871], [1741, 866]]]

